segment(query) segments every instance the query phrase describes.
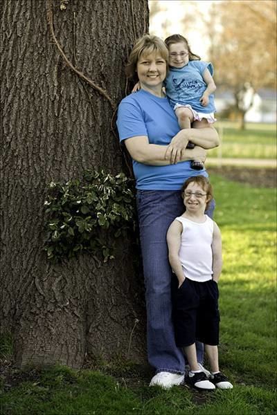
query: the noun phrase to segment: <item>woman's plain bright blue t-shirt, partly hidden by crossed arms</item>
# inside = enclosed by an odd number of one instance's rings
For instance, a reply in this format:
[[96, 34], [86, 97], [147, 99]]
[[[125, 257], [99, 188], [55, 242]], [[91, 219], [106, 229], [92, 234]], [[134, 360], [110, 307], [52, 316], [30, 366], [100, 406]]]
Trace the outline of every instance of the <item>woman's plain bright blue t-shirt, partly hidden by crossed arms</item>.
[[[127, 95], [118, 107], [116, 121], [120, 142], [135, 136], [147, 136], [150, 144], [168, 145], [180, 131], [177, 117], [168, 98], [159, 98], [148, 91]], [[208, 176], [206, 169], [190, 168], [190, 162], [153, 166], [133, 160], [136, 188], [140, 190], [179, 190], [190, 176]]]

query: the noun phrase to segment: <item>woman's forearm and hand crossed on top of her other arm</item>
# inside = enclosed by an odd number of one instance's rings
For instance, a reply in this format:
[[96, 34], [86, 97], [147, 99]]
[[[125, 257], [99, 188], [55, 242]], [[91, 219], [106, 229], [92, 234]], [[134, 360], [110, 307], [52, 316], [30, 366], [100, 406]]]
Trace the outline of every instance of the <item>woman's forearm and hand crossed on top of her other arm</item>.
[[166, 150], [166, 160], [170, 160], [170, 163], [178, 163], [188, 141], [191, 141], [204, 149], [213, 149], [220, 145], [217, 131], [212, 126], [181, 129], [181, 131], [172, 138], [170, 145], [168, 145]]

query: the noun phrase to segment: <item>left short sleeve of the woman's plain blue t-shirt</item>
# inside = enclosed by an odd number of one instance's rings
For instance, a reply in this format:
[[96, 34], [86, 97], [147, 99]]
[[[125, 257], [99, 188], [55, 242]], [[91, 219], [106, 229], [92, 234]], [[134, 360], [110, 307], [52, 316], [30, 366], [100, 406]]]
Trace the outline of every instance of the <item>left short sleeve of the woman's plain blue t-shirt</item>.
[[141, 108], [132, 102], [120, 102], [116, 125], [120, 141], [135, 136], [148, 136]]

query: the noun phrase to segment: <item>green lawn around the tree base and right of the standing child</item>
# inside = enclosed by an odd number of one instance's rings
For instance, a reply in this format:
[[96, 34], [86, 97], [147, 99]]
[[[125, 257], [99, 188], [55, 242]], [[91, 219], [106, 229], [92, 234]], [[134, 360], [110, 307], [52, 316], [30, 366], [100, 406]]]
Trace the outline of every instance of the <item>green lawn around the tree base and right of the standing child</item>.
[[[23, 373], [1, 395], [5, 415], [276, 414], [276, 190], [211, 176], [222, 230], [220, 365], [234, 388], [163, 391], [135, 369]], [[7, 349], [7, 347], [6, 347]], [[110, 372], [111, 373], [111, 372]], [[26, 379], [24, 380], [24, 376]], [[116, 376], [115, 376], [116, 375]]]

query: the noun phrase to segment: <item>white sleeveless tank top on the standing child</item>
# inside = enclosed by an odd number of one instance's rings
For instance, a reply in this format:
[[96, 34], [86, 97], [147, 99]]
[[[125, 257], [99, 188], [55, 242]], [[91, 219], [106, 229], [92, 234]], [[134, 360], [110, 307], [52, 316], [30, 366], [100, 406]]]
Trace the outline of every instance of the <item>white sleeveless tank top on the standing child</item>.
[[183, 216], [176, 218], [183, 225], [179, 259], [184, 275], [193, 281], [205, 282], [213, 275], [213, 220], [206, 214], [204, 223]]

